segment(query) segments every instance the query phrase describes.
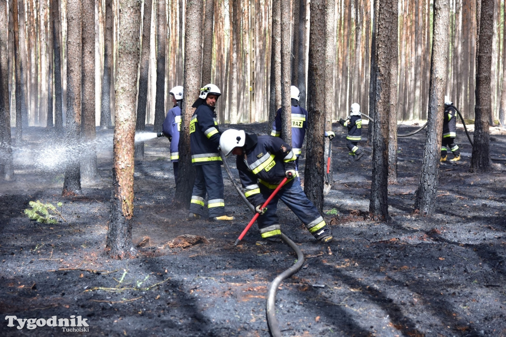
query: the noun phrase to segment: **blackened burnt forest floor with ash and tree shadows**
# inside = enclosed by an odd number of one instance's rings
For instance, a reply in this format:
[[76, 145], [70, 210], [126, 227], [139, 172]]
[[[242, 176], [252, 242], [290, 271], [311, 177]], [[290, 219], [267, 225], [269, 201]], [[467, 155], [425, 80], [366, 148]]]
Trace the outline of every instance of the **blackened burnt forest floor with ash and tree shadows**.
[[[400, 125], [399, 133], [418, 126]], [[265, 123], [239, 127], [268, 129]], [[389, 185], [392, 221], [384, 223], [367, 218], [371, 149], [362, 141], [367, 155], [348, 162], [345, 130], [339, 129], [323, 215], [334, 241], [315, 243], [284, 205], [278, 210], [282, 231], [305, 256], [302, 269], [276, 295], [283, 335], [506, 335], [506, 167], [494, 161], [489, 173], [470, 173], [471, 146], [458, 131], [462, 160], [440, 166], [437, 212], [426, 217], [413, 209], [425, 130], [399, 138], [398, 182]], [[40, 146], [45, 133], [25, 132], [28, 146]], [[112, 131], [98, 137], [112, 139]], [[493, 158], [506, 158], [504, 131], [491, 128], [490, 149]], [[36, 165], [36, 157], [16, 161], [16, 180], [0, 185], [0, 335], [270, 334], [269, 286], [297, 255], [285, 244], [257, 245], [255, 226], [233, 246], [252, 214], [225, 170], [226, 209], [236, 220], [187, 222], [187, 211], [171, 206], [175, 183], [168, 158], [168, 141], [160, 138], [147, 141], [145, 158], [136, 161], [133, 241], [140, 246], [137, 257], [126, 260], [104, 252], [111, 149], [100, 149], [100, 179], [83, 183], [82, 197], [61, 197], [61, 165], [48, 170]], [[36, 200], [62, 202], [66, 222], [29, 220], [23, 211]], [[8, 326], [7, 316], [81, 316], [89, 326], [64, 332], [26, 323], [18, 329], [17, 321]]]

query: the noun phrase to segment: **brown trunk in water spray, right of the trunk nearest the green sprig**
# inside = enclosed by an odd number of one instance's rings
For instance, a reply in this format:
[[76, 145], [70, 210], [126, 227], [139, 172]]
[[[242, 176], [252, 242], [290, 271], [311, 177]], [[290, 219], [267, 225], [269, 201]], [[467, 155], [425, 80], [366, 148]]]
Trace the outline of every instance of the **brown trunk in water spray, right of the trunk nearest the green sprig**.
[[81, 178], [94, 181], [98, 177], [95, 128], [95, 0], [81, 0], [82, 6], [82, 121], [83, 141], [90, 146], [82, 154]]

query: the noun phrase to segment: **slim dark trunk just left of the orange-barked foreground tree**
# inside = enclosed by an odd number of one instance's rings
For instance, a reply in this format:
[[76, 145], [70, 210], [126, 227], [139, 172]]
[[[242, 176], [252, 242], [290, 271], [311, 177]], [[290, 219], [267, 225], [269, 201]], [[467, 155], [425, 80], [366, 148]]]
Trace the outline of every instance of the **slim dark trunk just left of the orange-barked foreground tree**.
[[104, 75], [102, 77], [102, 99], [100, 101], [100, 129], [110, 128], [111, 122], [111, 81], [112, 81], [112, 0], [105, 0], [104, 31]]

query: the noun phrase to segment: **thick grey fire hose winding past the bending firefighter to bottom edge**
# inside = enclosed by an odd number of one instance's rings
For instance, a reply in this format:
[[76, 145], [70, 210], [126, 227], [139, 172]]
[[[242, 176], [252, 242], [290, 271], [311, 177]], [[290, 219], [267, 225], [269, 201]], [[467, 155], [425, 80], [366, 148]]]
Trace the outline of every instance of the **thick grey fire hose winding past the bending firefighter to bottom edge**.
[[[232, 171], [230, 170], [230, 166], [228, 166], [227, 159], [223, 155], [222, 151], [220, 151], [220, 156], [222, 157], [223, 166], [225, 166], [225, 170], [227, 171], [227, 174], [230, 180], [232, 181], [232, 184], [234, 185], [235, 189], [237, 190], [239, 196], [252, 212], [256, 212], [255, 207], [249, 203], [249, 201], [246, 199], [246, 196], [244, 196], [244, 193], [235, 182], [235, 179], [232, 175]], [[281, 283], [281, 281], [296, 273], [299, 269], [302, 268], [302, 265], [304, 264], [304, 254], [302, 254], [301, 249], [285, 234], [281, 233], [281, 238], [288, 246], [290, 246], [291, 249], [293, 249], [294, 252], [296, 252], [297, 263], [291, 266], [290, 268], [286, 269], [285, 271], [283, 271], [278, 276], [276, 276], [276, 278], [272, 281], [271, 286], [269, 287], [269, 293], [267, 297], [267, 308], [266, 308], [267, 324], [269, 325], [271, 334], [274, 337], [281, 336], [281, 330], [279, 329], [279, 324], [276, 319], [276, 307], [275, 307], [276, 291], [278, 289], [278, 286]]]

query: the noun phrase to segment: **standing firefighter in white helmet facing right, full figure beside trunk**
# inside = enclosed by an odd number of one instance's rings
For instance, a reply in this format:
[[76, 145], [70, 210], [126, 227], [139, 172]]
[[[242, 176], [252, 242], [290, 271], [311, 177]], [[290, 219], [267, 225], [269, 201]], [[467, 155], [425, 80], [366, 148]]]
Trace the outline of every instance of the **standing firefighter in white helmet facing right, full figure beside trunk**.
[[196, 108], [190, 120], [191, 162], [195, 168], [195, 184], [190, 201], [188, 220], [200, 219], [205, 214], [205, 195], [209, 220], [234, 220], [225, 215], [222, 159], [219, 154], [221, 132], [216, 121], [216, 101], [221, 91], [215, 84], [200, 89], [193, 104]]

